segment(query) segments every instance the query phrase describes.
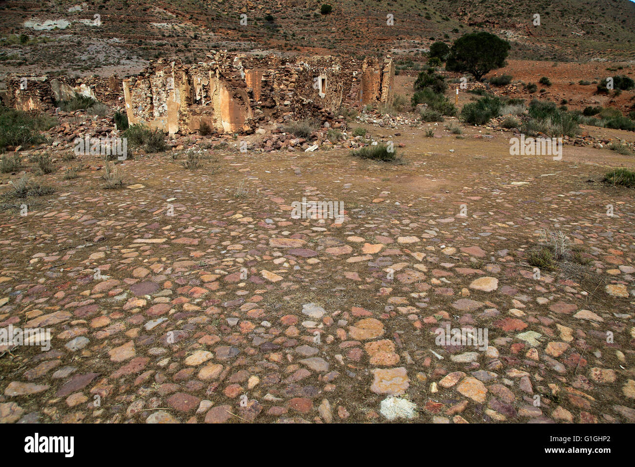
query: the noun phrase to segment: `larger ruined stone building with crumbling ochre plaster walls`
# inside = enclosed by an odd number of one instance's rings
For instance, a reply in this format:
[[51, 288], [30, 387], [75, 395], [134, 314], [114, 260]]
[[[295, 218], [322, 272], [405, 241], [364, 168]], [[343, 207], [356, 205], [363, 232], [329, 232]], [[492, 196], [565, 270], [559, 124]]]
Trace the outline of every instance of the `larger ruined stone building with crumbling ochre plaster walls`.
[[124, 79], [130, 124], [168, 133], [253, 133], [290, 119], [337, 116], [340, 107], [387, 102], [394, 87], [391, 57], [311, 57], [288, 62], [225, 51], [208, 62], [185, 65], [159, 60]]

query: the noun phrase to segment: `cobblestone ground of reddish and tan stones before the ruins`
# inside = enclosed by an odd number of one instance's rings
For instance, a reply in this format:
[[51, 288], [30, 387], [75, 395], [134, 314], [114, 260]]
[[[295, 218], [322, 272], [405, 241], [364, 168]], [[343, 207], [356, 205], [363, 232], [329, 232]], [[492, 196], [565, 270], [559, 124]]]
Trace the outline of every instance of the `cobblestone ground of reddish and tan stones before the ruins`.
[[[38, 177], [56, 193], [1, 221], [0, 326], [51, 348], [0, 350], [0, 421], [635, 422], [632, 190], [582, 160], [620, 156], [466, 138], [404, 139], [403, 165], [163, 154], [104, 189], [86, 156]], [[344, 222], [292, 219], [303, 197]], [[533, 269], [544, 229], [575, 261]]]

